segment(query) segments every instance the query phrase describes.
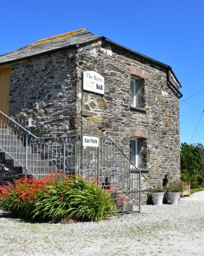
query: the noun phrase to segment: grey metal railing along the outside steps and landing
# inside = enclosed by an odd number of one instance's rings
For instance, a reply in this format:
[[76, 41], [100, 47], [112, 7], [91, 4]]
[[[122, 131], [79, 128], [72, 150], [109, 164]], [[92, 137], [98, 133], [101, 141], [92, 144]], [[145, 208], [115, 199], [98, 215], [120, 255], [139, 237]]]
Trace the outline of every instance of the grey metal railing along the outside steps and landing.
[[80, 175], [100, 186], [118, 186], [141, 208], [143, 174], [112, 138], [84, 147], [83, 136], [38, 138], [0, 111], [0, 149], [24, 168], [25, 176], [47, 173]]

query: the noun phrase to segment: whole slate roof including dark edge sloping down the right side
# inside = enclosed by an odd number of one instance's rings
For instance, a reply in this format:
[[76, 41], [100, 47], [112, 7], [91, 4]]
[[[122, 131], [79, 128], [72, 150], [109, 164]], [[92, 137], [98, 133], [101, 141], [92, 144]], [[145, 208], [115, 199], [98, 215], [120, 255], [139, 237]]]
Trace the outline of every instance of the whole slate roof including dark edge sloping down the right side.
[[[179, 80], [177, 79], [177, 76], [175, 76], [170, 66], [160, 61], [149, 58], [148, 56], [145, 56], [139, 52], [133, 51], [127, 47], [124, 47], [123, 45], [119, 45], [113, 42], [112, 40], [106, 38], [105, 36], [94, 35], [91, 32], [87, 31], [85, 28], [41, 39], [35, 42], [34, 44], [27, 45], [15, 51], [11, 51], [6, 54], [0, 55], [0, 66], [10, 64], [12, 62], [19, 60], [26, 60], [27, 58], [32, 58], [33, 56], [46, 54], [52, 51], [62, 51], [63, 49], [80, 47], [80, 45], [82, 44], [91, 44], [92, 42], [97, 42], [98, 40], [104, 40], [107, 44], [112, 44], [117, 47], [120, 47], [124, 51], [132, 52], [133, 54], [136, 54], [136, 56], [140, 56], [140, 58], [149, 60], [150, 62], [156, 63], [157, 65], [162, 66], [167, 70], [170, 70], [175, 79], [177, 80], [177, 82], [180, 84]], [[179, 94], [182, 95], [180, 92]]]

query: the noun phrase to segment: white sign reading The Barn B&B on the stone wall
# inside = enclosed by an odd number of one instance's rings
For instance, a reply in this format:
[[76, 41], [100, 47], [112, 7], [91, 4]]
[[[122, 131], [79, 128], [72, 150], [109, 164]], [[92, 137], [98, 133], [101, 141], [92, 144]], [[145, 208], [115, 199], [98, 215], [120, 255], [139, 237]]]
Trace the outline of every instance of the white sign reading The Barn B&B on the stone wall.
[[104, 77], [95, 71], [84, 71], [83, 89], [104, 95]]

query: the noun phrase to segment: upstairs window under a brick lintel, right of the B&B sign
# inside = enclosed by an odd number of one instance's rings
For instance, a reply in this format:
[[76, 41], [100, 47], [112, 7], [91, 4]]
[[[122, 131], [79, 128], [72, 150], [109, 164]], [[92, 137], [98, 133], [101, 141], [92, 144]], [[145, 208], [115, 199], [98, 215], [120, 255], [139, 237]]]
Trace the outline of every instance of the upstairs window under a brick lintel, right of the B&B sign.
[[145, 96], [144, 96], [144, 86], [142, 79], [131, 78], [131, 107], [144, 109], [145, 108]]

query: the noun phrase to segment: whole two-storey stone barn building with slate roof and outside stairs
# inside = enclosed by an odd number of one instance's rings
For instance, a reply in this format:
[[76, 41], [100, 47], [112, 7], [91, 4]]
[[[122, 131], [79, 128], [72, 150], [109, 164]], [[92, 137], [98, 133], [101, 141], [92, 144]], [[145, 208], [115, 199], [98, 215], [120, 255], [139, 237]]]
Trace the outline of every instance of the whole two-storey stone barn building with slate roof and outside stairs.
[[1, 163], [13, 161], [9, 177], [94, 177], [140, 204], [180, 177], [181, 96], [170, 66], [105, 36], [38, 40], [0, 56]]

